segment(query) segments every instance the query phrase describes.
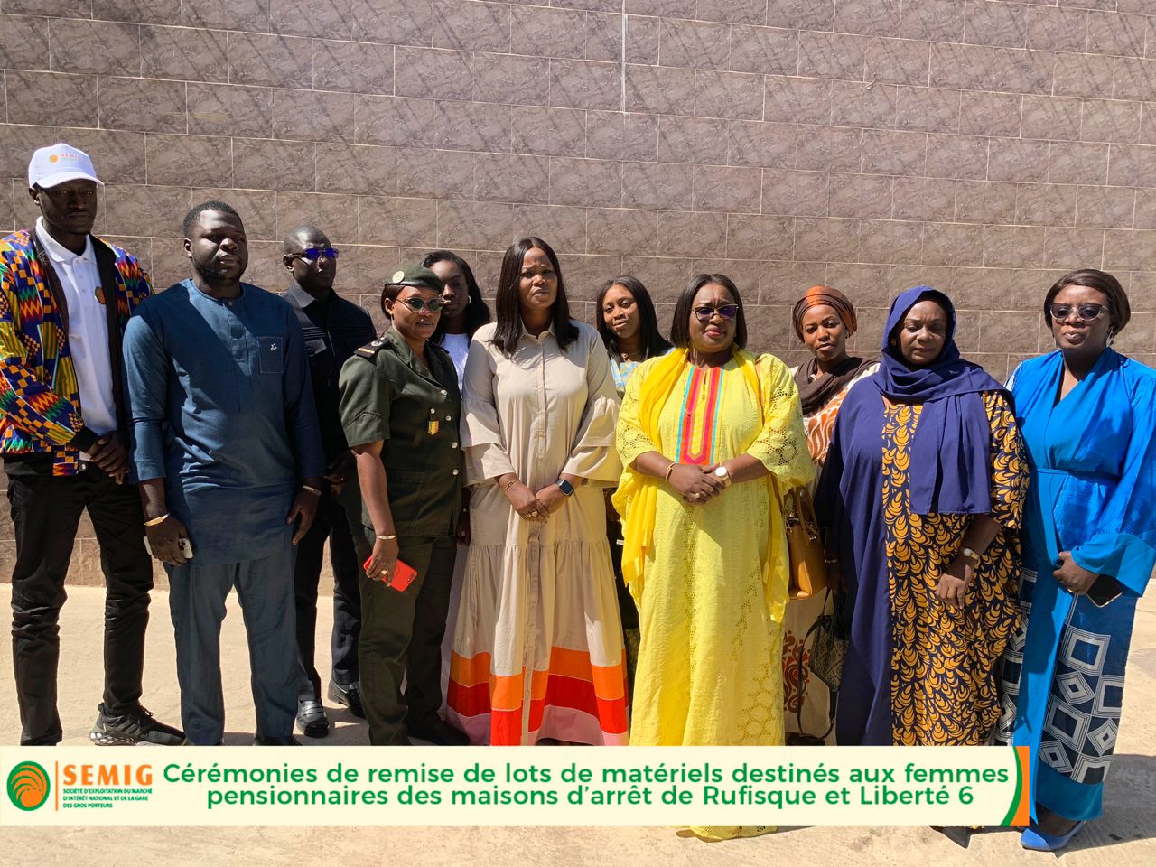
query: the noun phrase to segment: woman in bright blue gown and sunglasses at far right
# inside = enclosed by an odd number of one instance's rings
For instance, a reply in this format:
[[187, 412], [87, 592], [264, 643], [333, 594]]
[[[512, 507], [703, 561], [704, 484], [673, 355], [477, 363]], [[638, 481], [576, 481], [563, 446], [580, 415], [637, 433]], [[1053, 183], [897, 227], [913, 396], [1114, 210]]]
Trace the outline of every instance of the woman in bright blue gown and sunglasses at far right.
[[1136, 600], [1156, 564], [1156, 372], [1114, 351], [1131, 310], [1101, 271], [1044, 301], [1058, 349], [1013, 373], [1028, 446], [1021, 632], [998, 738], [1031, 748], [1025, 849], [1055, 851], [1102, 810]]

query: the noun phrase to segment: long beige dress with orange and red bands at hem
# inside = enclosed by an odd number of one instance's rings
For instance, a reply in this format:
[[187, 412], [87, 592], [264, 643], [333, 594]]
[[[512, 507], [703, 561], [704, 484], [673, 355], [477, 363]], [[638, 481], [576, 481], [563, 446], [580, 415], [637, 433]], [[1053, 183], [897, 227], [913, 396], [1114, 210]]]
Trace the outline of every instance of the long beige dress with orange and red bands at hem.
[[[474, 743], [627, 742], [622, 628], [602, 489], [618, 481], [618, 400], [598, 333], [523, 334], [512, 358], [474, 335], [462, 445], [470, 546], [450, 664], [449, 717]], [[532, 490], [586, 480], [547, 524], [523, 520], [496, 480]]]

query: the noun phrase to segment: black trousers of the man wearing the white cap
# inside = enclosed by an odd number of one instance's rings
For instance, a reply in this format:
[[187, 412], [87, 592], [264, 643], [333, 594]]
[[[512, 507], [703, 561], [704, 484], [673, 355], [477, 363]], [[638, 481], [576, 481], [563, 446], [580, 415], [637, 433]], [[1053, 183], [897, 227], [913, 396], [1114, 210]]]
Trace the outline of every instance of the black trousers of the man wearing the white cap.
[[144, 549], [136, 486], [117, 484], [90, 467], [75, 476], [31, 472], [5, 461], [16, 531], [12, 573], [12, 657], [22, 726], [21, 744], [59, 743], [57, 665], [60, 608], [80, 516], [88, 510], [104, 572], [104, 710], [136, 706], [144, 668], [153, 562]]

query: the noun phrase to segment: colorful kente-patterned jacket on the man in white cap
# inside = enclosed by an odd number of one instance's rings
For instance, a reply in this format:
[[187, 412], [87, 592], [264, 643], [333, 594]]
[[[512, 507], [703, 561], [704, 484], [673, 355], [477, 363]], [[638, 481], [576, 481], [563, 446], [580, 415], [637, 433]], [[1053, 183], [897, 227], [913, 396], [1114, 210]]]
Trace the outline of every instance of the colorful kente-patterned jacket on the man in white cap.
[[[60, 283], [47, 253], [32, 238], [21, 230], [0, 240], [0, 454], [51, 454], [52, 475], [75, 475], [80, 453], [92, 446], [96, 435], [81, 414], [67, 313], [62, 316], [57, 303]], [[110, 335], [109, 343], [116, 379], [123, 370], [120, 335], [151, 284], [140, 262], [120, 247], [92, 236], [92, 250], [102, 286], [108, 287], [110, 272], [113, 277], [120, 332]], [[119, 416], [119, 380], [113, 394]]]

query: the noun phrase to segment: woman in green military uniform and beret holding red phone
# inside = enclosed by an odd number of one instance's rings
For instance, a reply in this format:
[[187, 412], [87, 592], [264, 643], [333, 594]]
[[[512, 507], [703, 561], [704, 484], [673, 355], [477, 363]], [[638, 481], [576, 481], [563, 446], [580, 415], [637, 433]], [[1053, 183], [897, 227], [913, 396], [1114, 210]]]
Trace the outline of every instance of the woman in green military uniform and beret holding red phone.
[[[443, 288], [428, 268], [397, 271], [381, 291], [390, 329], [341, 369], [341, 422], [363, 501], [354, 538], [366, 563], [358, 665], [373, 744], [466, 742], [438, 717], [462, 469], [458, 377], [449, 354], [429, 342]], [[417, 572], [400, 591], [391, 586], [405, 571], [399, 562]]]

